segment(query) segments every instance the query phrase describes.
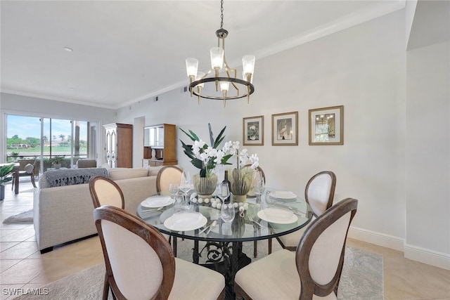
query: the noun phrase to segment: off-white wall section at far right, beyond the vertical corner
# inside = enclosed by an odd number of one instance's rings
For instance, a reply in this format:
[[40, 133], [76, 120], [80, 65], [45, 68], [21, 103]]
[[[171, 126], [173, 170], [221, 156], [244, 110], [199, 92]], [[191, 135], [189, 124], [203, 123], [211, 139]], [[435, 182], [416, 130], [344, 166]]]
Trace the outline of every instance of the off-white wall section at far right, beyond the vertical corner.
[[450, 42], [407, 62], [405, 256], [450, 268]]

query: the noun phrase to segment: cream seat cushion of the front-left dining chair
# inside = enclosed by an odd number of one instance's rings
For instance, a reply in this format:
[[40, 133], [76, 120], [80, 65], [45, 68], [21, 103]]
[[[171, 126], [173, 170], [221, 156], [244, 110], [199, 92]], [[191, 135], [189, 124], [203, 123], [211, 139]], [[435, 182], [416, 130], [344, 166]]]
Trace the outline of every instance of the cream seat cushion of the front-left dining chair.
[[224, 275], [175, 258], [175, 280], [169, 299], [217, 299], [225, 287]]

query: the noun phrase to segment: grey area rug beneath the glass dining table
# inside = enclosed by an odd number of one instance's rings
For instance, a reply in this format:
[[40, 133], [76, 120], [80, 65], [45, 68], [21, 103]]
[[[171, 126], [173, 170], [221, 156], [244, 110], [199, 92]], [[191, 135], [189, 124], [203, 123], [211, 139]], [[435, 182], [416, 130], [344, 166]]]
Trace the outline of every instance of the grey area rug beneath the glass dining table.
[[[178, 257], [191, 261], [192, 241], [178, 243]], [[278, 245], [274, 242], [274, 251]], [[253, 243], [244, 243], [244, 252], [253, 253]], [[258, 243], [259, 259], [267, 252], [267, 243]], [[255, 260], [252, 258], [252, 260]], [[23, 295], [16, 300], [101, 299], [105, 266], [103, 263], [69, 275], [39, 289], [46, 295]], [[340, 300], [383, 300], [383, 256], [355, 247], [347, 247], [338, 289]], [[108, 299], [112, 299], [111, 294]], [[199, 297], [198, 299], [201, 299]], [[197, 299], [195, 299], [197, 300]]]

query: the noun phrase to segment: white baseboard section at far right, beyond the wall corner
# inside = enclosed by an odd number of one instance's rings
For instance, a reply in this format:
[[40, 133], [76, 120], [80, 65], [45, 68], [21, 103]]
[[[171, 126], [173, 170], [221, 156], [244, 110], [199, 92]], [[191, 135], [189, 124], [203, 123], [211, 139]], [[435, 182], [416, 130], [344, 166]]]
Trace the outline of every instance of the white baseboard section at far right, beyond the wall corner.
[[446, 253], [405, 244], [404, 256], [406, 259], [412, 259], [413, 261], [420, 261], [421, 263], [450, 270], [450, 255]]

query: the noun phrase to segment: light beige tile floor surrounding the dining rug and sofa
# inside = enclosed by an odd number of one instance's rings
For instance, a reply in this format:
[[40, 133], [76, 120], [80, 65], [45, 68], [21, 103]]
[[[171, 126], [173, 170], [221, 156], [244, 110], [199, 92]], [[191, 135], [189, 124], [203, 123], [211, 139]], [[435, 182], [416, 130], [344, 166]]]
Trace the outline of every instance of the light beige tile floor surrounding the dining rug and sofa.
[[[22, 178], [18, 195], [6, 185], [0, 220], [32, 209], [32, 192], [31, 183]], [[450, 300], [450, 270], [404, 259], [403, 252], [359, 240], [349, 239], [347, 244], [383, 254], [386, 300]], [[98, 237], [55, 247], [41, 255], [32, 224], [0, 223], [0, 299], [12, 298], [8, 288], [41, 287], [102, 262]]]

